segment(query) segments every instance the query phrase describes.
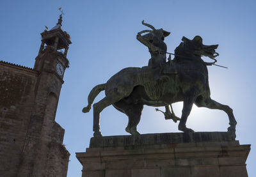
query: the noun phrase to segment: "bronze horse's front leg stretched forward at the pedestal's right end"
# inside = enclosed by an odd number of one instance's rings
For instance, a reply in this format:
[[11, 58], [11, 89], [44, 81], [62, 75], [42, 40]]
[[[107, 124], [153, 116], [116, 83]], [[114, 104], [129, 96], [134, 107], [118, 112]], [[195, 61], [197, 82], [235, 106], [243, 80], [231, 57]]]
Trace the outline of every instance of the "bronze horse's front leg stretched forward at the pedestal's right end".
[[234, 136], [236, 137], [236, 119], [234, 117], [233, 114], [233, 110], [228, 106], [228, 105], [223, 105], [220, 104], [214, 100], [212, 100], [211, 98], [209, 99], [209, 102], [195, 102], [195, 104], [198, 107], [207, 107], [209, 109], [219, 109], [222, 111], [225, 111], [228, 114], [228, 119], [229, 119], [229, 125], [230, 127], [228, 127], [228, 132], [232, 132], [234, 134]]

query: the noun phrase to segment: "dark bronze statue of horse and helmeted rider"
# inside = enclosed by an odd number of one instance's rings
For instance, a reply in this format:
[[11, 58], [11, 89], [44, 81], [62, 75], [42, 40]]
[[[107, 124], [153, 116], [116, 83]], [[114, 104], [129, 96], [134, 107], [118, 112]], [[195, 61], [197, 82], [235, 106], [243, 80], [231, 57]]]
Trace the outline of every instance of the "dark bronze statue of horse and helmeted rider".
[[[137, 39], [148, 47], [151, 54], [148, 66], [124, 68], [106, 84], [99, 84], [92, 89], [88, 96], [88, 106], [83, 108], [83, 112], [90, 111], [93, 100], [100, 91], [105, 90], [106, 94], [102, 100], [93, 104], [93, 135], [102, 136], [99, 126], [100, 112], [109, 105], [128, 116], [126, 132], [138, 135], [137, 125], [143, 105], [168, 107], [172, 103], [183, 102], [180, 131], [194, 132], [186, 127], [186, 121], [192, 105], [196, 104], [198, 107], [225, 111], [230, 124], [228, 132], [236, 136], [236, 119], [232, 109], [210, 97], [207, 65], [212, 63], [205, 63], [201, 59], [201, 56], [218, 56], [215, 52], [218, 45], [203, 45], [200, 36], [195, 36], [193, 40], [183, 37], [175, 49], [175, 58], [166, 62], [167, 47], [163, 41], [170, 33], [142, 23], [152, 29], [141, 31], [137, 35]], [[142, 33], [147, 34], [141, 36]]]

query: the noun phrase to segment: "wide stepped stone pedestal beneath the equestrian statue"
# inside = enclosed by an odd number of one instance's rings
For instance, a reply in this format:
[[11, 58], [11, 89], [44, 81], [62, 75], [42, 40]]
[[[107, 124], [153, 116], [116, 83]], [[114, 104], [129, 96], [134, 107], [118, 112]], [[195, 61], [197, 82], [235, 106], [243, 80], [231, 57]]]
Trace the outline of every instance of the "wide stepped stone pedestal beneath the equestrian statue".
[[92, 137], [83, 177], [245, 177], [250, 145], [227, 132]]

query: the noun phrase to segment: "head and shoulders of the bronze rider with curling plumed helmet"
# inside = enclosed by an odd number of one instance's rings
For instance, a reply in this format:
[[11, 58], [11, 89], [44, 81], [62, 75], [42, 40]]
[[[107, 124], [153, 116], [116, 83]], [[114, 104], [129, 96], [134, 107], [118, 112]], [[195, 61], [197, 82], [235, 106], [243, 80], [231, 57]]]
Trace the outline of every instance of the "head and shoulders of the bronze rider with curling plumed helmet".
[[[138, 33], [137, 39], [148, 47], [148, 50], [151, 52], [166, 52], [167, 47], [166, 44], [163, 42], [164, 38], [170, 35], [170, 32], [164, 31], [161, 29], [156, 29], [154, 26], [150, 24], [146, 24], [144, 20], [142, 24], [150, 27], [152, 30], [143, 30]], [[147, 33], [142, 35], [143, 33]], [[164, 53], [165, 54], [165, 53]]]

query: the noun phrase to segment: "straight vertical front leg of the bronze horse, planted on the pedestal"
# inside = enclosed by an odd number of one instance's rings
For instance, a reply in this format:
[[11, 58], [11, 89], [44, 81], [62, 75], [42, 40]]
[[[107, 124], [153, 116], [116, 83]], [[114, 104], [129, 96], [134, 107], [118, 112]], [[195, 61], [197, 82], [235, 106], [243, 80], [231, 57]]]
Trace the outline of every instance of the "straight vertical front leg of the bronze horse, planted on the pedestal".
[[194, 101], [193, 97], [187, 96], [183, 102], [182, 115], [179, 123], [179, 130], [182, 132], [194, 132], [194, 130], [192, 130], [191, 128], [186, 127], [186, 122], [194, 103], [193, 101]]

